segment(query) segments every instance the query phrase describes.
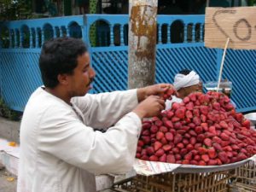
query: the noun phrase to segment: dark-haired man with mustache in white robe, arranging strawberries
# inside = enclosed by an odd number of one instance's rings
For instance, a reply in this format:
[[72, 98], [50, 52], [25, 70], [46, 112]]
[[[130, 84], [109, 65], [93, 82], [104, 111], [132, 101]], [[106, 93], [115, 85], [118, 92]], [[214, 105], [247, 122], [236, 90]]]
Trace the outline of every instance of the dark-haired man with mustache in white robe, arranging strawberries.
[[46, 42], [39, 67], [44, 86], [32, 93], [20, 125], [17, 191], [92, 192], [95, 174], [130, 171], [142, 119], [160, 114], [158, 95], [172, 85], [86, 94], [96, 73], [75, 38]]

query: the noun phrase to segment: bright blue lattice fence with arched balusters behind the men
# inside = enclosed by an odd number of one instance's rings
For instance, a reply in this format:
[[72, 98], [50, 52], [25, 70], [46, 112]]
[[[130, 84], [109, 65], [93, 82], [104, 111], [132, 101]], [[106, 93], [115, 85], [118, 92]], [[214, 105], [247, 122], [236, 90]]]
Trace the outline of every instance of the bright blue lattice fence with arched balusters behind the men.
[[[170, 82], [183, 68], [201, 79], [218, 79], [222, 50], [204, 47], [204, 15], [159, 15], [156, 83]], [[1, 96], [10, 108], [23, 111], [32, 91], [42, 84], [38, 69], [41, 45], [49, 38], [83, 38], [96, 69], [93, 93], [127, 89], [128, 15], [78, 15], [0, 23]], [[95, 36], [94, 36], [95, 35]], [[224, 79], [233, 83], [239, 111], [256, 109], [256, 51], [227, 52]]]

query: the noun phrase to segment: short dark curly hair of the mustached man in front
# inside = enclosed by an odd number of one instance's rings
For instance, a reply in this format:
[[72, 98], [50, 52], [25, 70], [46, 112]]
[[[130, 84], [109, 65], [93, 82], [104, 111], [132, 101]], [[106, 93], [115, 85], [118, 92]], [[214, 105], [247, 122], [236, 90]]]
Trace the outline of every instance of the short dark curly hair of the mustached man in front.
[[55, 88], [59, 74], [73, 74], [79, 55], [87, 52], [78, 38], [53, 38], [44, 43], [39, 58], [39, 67], [45, 87]]

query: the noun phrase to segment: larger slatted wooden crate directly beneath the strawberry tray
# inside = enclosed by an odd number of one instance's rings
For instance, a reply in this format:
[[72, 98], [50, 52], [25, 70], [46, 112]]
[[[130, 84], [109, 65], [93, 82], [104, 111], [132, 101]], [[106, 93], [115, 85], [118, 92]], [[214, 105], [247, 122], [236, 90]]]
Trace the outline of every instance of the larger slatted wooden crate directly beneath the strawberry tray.
[[230, 172], [165, 173], [133, 177], [116, 183], [113, 190], [131, 192], [225, 192], [229, 191]]

